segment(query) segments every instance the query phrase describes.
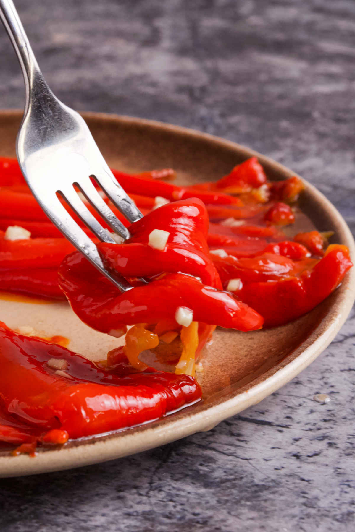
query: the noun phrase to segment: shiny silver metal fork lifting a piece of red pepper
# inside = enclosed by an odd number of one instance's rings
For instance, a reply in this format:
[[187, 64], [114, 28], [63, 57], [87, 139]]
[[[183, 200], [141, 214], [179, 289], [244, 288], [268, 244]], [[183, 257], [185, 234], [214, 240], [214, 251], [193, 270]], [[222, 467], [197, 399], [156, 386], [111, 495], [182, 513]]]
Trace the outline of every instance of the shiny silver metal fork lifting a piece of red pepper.
[[[125, 278], [105, 268], [96, 245], [63, 206], [64, 200], [101, 240], [114, 243], [110, 232], [89, 211], [77, 187], [114, 233], [129, 238], [93, 184], [133, 223], [143, 217], [113, 176], [84, 119], [59, 101], [48, 87], [12, 0], [0, 0], [0, 17], [21, 65], [26, 104], [16, 139], [16, 154], [24, 179], [49, 219], [101, 273], [125, 292]], [[59, 196], [62, 198], [60, 200]]]

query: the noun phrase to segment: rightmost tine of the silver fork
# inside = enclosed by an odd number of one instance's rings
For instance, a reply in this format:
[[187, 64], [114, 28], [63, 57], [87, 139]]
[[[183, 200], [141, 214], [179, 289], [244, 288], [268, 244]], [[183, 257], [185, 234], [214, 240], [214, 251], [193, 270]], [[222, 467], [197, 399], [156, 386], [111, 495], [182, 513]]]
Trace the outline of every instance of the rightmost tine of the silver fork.
[[92, 177], [97, 181], [98, 185], [103, 189], [106, 196], [110, 198], [113, 205], [123, 214], [131, 223], [143, 218], [143, 214], [137, 209], [134, 202], [127, 195], [125, 190], [121, 187], [117, 179], [114, 177], [110, 168], [103, 160], [102, 169], [97, 173], [93, 173]]

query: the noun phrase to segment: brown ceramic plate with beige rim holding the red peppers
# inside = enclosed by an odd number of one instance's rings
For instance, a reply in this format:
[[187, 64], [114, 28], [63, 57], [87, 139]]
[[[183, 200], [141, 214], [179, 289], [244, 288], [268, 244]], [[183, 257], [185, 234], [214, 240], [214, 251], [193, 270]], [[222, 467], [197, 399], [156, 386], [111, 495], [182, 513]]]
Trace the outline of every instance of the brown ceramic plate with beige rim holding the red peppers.
[[[15, 156], [15, 137], [22, 113], [0, 112], [1, 156]], [[113, 168], [144, 171], [172, 167], [179, 184], [215, 180], [235, 164], [256, 155], [271, 180], [294, 175], [282, 165], [210, 135], [175, 126], [85, 113], [89, 128]], [[320, 231], [334, 231], [333, 242], [350, 248], [350, 230], [335, 207], [306, 183], [301, 209]], [[297, 231], [312, 226], [304, 217]], [[62, 448], [40, 449], [36, 458], [0, 453], [0, 475], [31, 475], [112, 460], [209, 430], [221, 420], [258, 403], [306, 368], [332, 341], [350, 312], [355, 293], [355, 269], [326, 301], [306, 316], [283, 327], [254, 332], [217, 330], [202, 355], [199, 374], [203, 401], [144, 426], [69, 442]], [[39, 303], [2, 295], [0, 320], [10, 327], [29, 325], [43, 336], [63, 335], [69, 348], [92, 360], [120, 345], [120, 340], [89, 329], [65, 303]]]

